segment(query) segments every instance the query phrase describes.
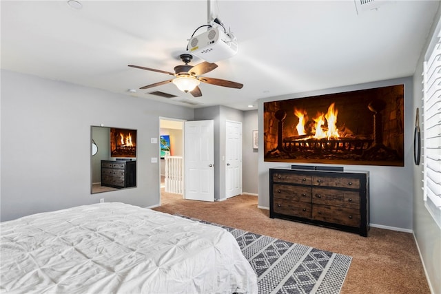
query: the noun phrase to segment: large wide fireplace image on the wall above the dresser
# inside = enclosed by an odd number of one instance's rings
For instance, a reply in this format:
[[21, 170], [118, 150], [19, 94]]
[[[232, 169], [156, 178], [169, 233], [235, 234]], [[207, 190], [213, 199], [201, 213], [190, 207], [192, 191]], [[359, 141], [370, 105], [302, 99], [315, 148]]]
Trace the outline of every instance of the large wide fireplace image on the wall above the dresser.
[[404, 166], [404, 85], [264, 103], [265, 161]]

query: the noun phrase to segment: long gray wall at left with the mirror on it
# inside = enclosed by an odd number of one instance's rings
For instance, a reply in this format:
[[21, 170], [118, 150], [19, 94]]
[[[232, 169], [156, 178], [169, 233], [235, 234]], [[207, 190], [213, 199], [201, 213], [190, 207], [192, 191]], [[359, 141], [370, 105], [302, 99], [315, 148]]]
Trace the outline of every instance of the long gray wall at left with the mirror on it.
[[[1, 221], [82, 204], [159, 203], [158, 116], [194, 111], [70, 83], [1, 71]], [[137, 129], [137, 185], [90, 194], [90, 126]]]

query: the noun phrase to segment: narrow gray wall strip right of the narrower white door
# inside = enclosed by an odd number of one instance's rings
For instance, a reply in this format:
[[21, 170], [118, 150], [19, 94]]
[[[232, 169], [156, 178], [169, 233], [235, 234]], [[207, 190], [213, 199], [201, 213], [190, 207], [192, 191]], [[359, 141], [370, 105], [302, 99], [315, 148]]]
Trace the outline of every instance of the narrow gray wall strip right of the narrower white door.
[[258, 149], [253, 149], [252, 132], [258, 129], [257, 110], [243, 112], [242, 126], [242, 180], [243, 193], [258, 193]]

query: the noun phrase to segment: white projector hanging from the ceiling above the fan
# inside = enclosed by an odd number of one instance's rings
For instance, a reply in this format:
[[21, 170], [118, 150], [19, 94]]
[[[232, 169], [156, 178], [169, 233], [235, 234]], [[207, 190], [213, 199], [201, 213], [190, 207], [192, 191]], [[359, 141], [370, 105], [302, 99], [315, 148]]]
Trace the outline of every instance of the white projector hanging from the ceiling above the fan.
[[216, 27], [203, 34], [192, 37], [188, 42], [188, 50], [209, 63], [215, 63], [234, 56], [238, 44], [232, 34], [226, 34], [223, 28]]

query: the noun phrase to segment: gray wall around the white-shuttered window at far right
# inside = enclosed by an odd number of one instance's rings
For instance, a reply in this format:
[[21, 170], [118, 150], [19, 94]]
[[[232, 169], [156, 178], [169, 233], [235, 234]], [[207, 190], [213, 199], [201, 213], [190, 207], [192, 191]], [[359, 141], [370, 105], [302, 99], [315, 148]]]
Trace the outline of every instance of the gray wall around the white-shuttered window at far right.
[[[440, 19], [441, 8], [438, 9], [435, 19]], [[417, 63], [413, 76], [413, 116], [415, 119], [416, 107], [422, 109], [422, 63], [424, 54], [429, 47], [431, 35], [437, 23], [433, 24], [429, 39]], [[421, 122], [420, 111], [420, 122]], [[422, 164], [413, 165], [413, 233], [420, 249], [420, 255], [429, 278], [433, 293], [441, 293], [441, 229], [435, 223], [429, 211], [424, 207], [422, 187]]]

